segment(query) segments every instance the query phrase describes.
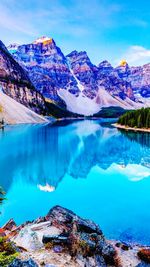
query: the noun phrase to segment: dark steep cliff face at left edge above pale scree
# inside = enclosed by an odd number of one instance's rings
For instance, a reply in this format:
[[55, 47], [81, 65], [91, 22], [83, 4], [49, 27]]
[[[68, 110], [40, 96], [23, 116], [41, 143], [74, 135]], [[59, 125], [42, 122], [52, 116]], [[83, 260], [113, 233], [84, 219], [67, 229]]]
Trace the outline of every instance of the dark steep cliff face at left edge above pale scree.
[[8, 96], [39, 114], [45, 114], [43, 96], [34, 88], [27, 72], [0, 41], [0, 88]]

